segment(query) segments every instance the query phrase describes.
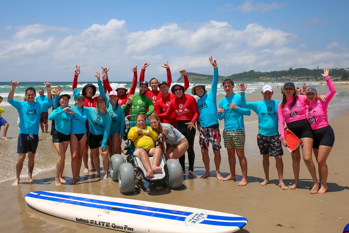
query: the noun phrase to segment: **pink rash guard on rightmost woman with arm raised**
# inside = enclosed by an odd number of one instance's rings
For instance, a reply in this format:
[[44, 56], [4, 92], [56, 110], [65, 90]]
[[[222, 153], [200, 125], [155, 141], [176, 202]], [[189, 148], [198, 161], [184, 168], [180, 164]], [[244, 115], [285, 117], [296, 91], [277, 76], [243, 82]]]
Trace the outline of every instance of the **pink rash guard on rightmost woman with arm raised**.
[[336, 88], [334, 87], [331, 78], [327, 77], [325, 80], [328, 84], [329, 90], [325, 95], [326, 102], [315, 100], [306, 109], [306, 118], [309, 121], [312, 130], [321, 129], [329, 125], [327, 121], [327, 106], [336, 93]]

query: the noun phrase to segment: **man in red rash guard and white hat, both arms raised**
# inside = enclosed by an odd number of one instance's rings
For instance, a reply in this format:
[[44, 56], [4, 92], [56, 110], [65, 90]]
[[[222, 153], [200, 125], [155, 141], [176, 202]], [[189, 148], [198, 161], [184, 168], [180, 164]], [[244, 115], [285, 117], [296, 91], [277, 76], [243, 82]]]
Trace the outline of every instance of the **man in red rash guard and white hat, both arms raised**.
[[[103, 68], [102, 67], [102, 69], [104, 70], [104, 73], [106, 73], [106, 74], [109, 71], [109, 69], [107, 69], [107, 68]], [[127, 89], [126, 89], [126, 87], [124, 85], [119, 85], [118, 88], [116, 88], [116, 92], [118, 93], [118, 96], [119, 96], [118, 103], [122, 107], [125, 107], [125, 105], [127, 104], [127, 98], [130, 95], [134, 94], [134, 92], [136, 90], [136, 86], [137, 86], [137, 78], [138, 78], [138, 76], [137, 76], [137, 66], [133, 66], [131, 68], [131, 70], [133, 71], [133, 80], [132, 80], [132, 85], [131, 85], [130, 91], [127, 93]], [[106, 91], [108, 91], [108, 93], [109, 93], [109, 92], [111, 92], [113, 90], [111, 88], [111, 86], [110, 86], [108, 75], [107, 75], [106, 80], [103, 80], [103, 87], [107, 87], [106, 89], [104, 89], [105, 93], [106, 93]], [[130, 113], [130, 110], [127, 110], [125, 115], [126, 116], [129, 115], [129, 113]]]

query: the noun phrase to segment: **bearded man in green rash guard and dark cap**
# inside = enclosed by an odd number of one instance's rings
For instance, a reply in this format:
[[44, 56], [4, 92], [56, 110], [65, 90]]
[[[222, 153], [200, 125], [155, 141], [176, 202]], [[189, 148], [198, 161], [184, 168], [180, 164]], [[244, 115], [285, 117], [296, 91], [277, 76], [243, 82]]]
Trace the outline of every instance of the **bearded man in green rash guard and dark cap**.
[[[128, 97], [127, 104], [124, 107], [126, 112], [130, 107], [130, 115], [137, 115], [143, 113], [146, 117], [150, 116], [154, 112], [153, 100], [146, 96], [148, 89], [148, 82], [141, 81], [139, 84], [139, 93], [133, 94]], [[135, 121], [135, 117], [131, 117], [131, 121]]]

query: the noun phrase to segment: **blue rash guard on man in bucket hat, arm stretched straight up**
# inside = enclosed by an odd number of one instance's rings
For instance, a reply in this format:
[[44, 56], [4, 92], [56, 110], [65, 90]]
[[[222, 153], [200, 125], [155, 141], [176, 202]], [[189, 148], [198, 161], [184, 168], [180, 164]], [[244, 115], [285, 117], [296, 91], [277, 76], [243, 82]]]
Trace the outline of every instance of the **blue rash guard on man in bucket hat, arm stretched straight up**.
[[205, 94], [198, 100], [199, 119], [202, 127], [209, 127], [218, 124], [217, 119], [217, 85], [218, 68], [214, 68], [212, 88], [209, 94]]

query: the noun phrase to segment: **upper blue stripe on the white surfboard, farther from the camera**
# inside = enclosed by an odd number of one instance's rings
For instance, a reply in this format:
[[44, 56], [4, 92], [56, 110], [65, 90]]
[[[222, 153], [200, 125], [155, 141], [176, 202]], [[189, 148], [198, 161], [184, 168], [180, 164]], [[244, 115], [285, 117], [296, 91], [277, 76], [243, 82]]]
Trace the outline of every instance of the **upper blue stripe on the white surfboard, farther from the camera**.
[[[134, 209], [141, 209], [141, 210], [148, 210], [148, 211], [155, 211], [155, 212], [162, 212], [162, 213], [172, 213], [172, 214], [179, 214], [184, 216], [189, 216], [190, 214], [193, 213], [193, 212], [186, 212], [186, 211], [168, 210], [168, 209], [162, 209], [162, 208], [156, 208], [156, 207], [150, 207], [150, 206], [126, 204], [126, 203], [120, 203], [120, 202], [102, 201], [102, 200], [90, 199], [86, 197], [56, 194], [56, 193], [45, 192], [45, 191], [34, 191], [34, 193], [52, 196], [52, 197], [73, 199], [77, 201], [92, 202], [92, 203], [105, 204], [105, 205], [117, 205], [117, 206], [134, 208]], [[225, 220], [225, 221], [247, 221], [247, 219], [244, 217], [228, 217], [228, 216], [219, 216], [219, 215], [211, 215], [211, 214], [208, 214], [207, 218], [214, 219], [214, 220]]]

